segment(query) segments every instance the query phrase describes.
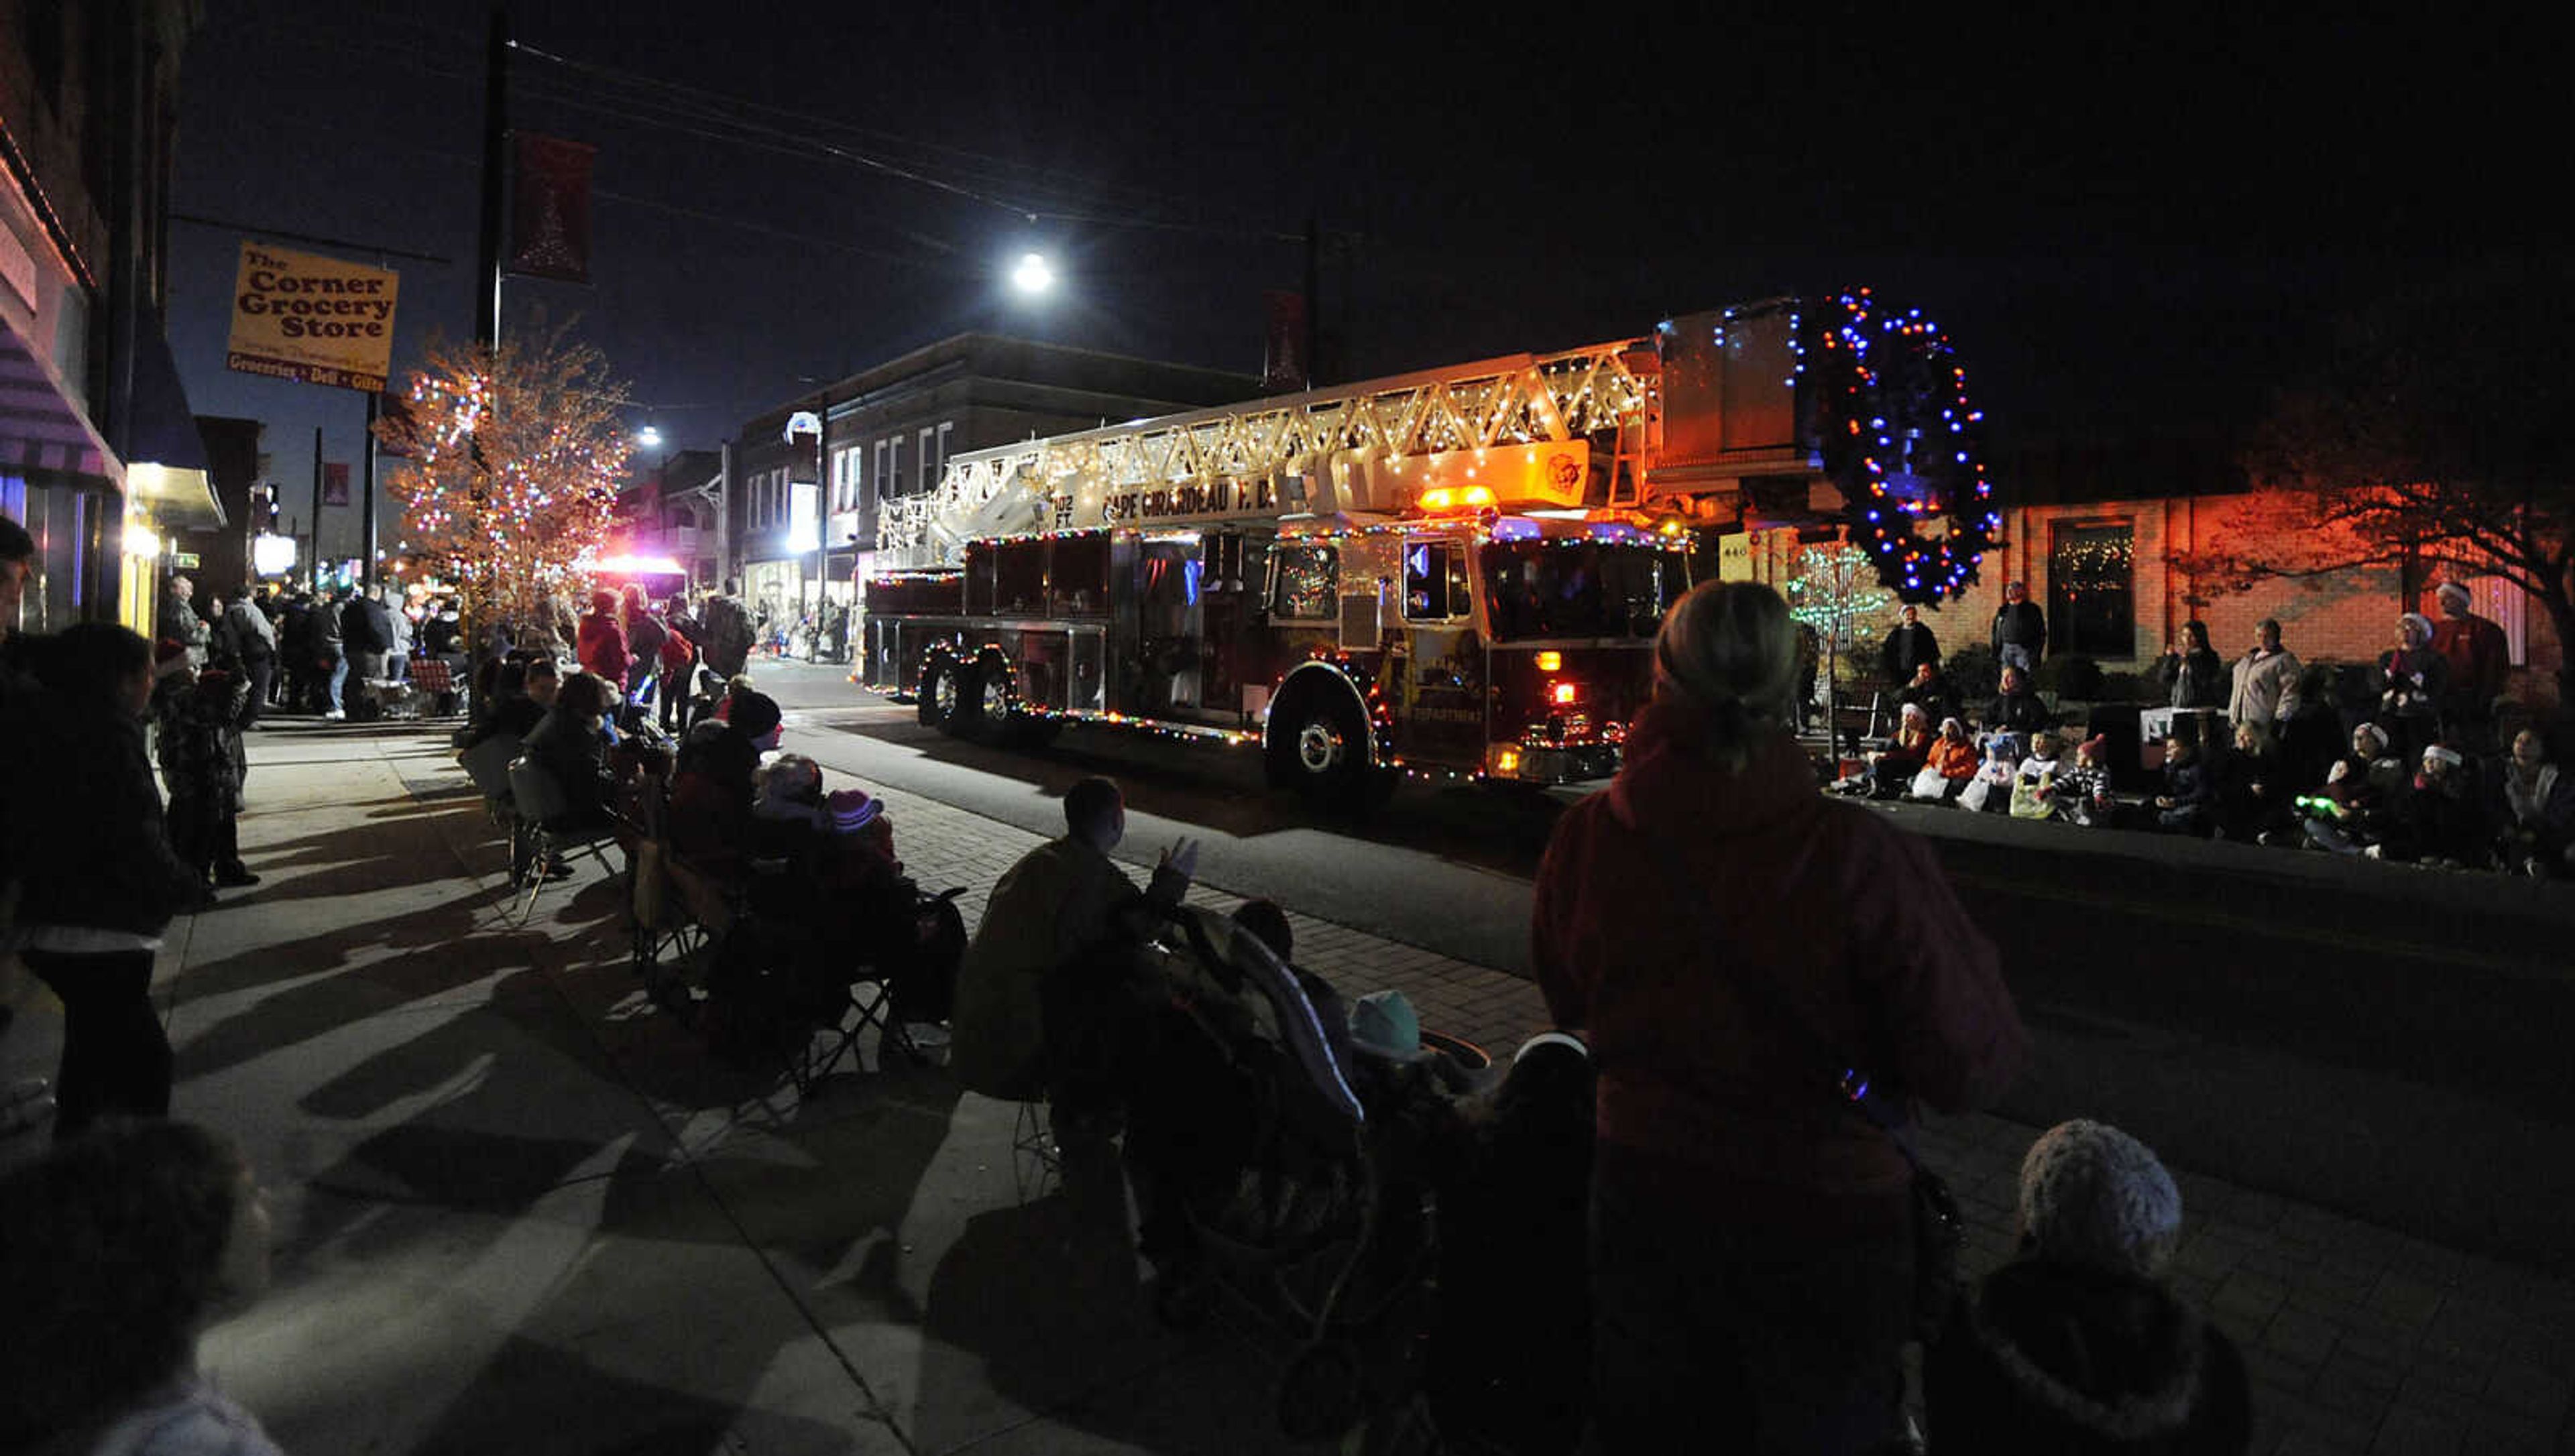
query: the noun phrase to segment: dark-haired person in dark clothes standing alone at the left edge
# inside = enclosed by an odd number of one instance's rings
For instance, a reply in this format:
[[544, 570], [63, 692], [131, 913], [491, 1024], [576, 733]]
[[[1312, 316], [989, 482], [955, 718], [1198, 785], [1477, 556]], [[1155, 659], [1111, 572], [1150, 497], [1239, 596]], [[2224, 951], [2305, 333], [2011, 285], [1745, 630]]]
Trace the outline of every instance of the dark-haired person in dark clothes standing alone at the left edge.
[[162, 929], [214, 895], [170, 851], [144, 756], [152, 643], [75, 623], [28, 643], [41, 692], [0, 728], [0, 800], [44, 826], [15, 854], [18, 960], [62, 998], [54, 1140], [100, 1116], [170, 1111], [170, 1037], [152, 1006]]

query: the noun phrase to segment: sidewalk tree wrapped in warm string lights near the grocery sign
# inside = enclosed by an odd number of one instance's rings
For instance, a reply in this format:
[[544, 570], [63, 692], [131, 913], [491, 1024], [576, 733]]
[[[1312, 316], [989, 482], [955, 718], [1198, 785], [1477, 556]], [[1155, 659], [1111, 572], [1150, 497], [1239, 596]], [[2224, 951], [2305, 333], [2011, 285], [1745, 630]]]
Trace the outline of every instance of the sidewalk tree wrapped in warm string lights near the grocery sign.
[[626, 386], [564, 332], [500, 347], [433, 342], [407, 406], [376, 424], [402, 530], [458, 587], [469, 623], [579, 602], [633, 442]]

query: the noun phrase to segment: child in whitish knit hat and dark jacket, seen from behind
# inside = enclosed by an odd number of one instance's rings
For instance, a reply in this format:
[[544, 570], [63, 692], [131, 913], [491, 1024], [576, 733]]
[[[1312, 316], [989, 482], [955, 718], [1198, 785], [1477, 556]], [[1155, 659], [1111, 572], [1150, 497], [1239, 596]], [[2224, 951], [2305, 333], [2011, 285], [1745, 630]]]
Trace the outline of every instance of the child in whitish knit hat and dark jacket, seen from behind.
[[2233, 1456], [2243, 1356], [2163, 1281], [2181, 1188], [2135, 1137], [2060, 1122], [2021, 1160], [2019, 1250], [1924, 1361], [1931, 1451]]

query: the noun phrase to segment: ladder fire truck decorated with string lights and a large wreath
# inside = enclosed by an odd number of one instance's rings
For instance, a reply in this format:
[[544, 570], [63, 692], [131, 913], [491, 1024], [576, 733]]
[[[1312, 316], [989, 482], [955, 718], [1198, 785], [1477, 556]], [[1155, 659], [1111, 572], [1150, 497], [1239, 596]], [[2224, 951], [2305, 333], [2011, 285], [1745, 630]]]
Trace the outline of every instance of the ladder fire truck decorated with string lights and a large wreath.
[[976, 450], [886, 502], [863, 677], [968, 738], [1259, 743], [1318, 797], [1602, 779], [1702, 535], [1972, 581], [1978, 419], [1939, 329], [1851, 291]]

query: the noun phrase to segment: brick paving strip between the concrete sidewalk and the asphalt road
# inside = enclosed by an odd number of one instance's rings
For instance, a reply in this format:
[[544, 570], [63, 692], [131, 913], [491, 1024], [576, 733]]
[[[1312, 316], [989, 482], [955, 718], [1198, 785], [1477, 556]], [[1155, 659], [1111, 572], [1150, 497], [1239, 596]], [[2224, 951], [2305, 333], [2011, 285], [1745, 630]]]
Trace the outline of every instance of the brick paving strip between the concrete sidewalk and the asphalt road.
[[[870, 785], [873, 790], [873, 785]], [[984, 890], [1035, 833], [883, 790], [912, 872]], [[1231, 908], [1233, 887], [1190, 903]], [[1290, 911], [1295, 954], [1344, 996], [1401, 988], [1434, 1032], [1509, 1057], [1548, 1016], [1537, 985]], [[1967, 1271], [2009, 1258], [2021, 1152], [1998, 1116], [1931, 1119], [1924, 1150], [1967, 1212]], [[2245, 1353], [2256, 1456], [2575, 1456], [2575, 1284], [2173, 1168], [2186, 1235], [2173, 1284]]]

